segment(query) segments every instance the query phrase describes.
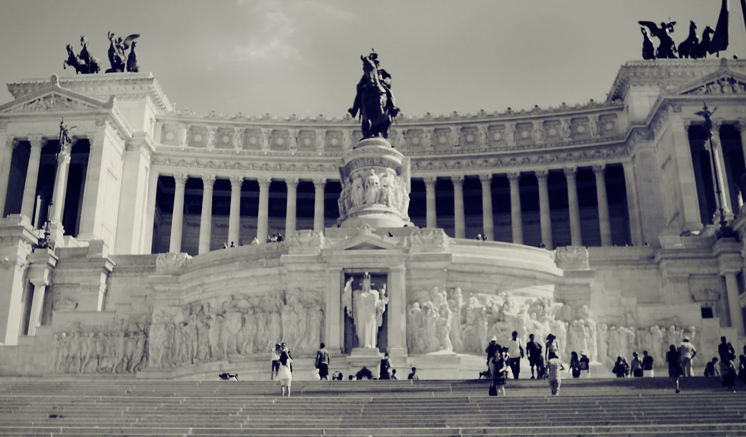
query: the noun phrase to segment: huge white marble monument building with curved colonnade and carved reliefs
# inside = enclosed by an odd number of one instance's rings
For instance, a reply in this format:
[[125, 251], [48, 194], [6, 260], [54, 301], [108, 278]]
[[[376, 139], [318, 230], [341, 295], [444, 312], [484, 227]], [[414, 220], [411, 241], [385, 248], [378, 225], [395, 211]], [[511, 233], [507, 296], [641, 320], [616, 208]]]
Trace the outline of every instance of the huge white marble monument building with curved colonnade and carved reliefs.
[[325, 342], [345, 374], [388, 352], [475, 377], [513, 330], [606, 369], [746, 341], [744, 60], [631, 61], [604, 101], [414, 117], [373, 52], [349, 114], [280, 119], [177, 110], [111, 40], [113, 72], [73, 52], [85, 74], [0, 106], [2, 375], [266, 379], [286, 342], [310, 377]]

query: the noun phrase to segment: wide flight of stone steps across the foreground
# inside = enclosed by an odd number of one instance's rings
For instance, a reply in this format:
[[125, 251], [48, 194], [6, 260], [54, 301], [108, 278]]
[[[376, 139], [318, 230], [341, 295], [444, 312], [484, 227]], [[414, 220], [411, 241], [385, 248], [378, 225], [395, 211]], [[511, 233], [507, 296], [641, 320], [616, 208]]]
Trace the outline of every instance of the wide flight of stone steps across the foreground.
[[0, 436], [739, 436], [746, 392], [716, 378], [298, 382], [0, 380]]

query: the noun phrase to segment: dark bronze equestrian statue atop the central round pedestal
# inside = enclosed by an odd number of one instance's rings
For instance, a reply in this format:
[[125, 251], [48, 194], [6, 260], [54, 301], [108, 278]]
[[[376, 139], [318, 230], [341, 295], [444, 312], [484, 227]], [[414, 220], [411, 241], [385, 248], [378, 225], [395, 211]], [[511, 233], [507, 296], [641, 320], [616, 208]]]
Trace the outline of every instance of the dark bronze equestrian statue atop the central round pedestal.
[[348, 110], [355, 118], [360, 110], [363, 139], [381, 136], [389, 137], [392, 119], [399, 113], [391, 92], [391, 75], [378, 67], [377, 54], [360, 56], [363, 61], [363, 78], [357, 84], [357, 95]]

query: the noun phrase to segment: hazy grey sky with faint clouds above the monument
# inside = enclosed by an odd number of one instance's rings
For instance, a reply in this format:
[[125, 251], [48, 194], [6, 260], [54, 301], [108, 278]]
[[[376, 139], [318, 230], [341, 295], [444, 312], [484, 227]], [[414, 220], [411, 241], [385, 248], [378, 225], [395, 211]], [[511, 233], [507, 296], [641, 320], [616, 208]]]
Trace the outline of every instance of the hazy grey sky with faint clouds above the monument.
[[[720, 0], [0, 0], [0, 81], [63, 70], [66, 44], [108, 67], [107, 32], [141, 34], [141, 72], [178, 109], [345, 116], [375, 48], [407, 116], [604, 101], [642, 59], [639, 20], [715, 28]], [[730, 47], [746, 28], [730, 0]], [[0, 91], [0, 104], [12, 97]]]

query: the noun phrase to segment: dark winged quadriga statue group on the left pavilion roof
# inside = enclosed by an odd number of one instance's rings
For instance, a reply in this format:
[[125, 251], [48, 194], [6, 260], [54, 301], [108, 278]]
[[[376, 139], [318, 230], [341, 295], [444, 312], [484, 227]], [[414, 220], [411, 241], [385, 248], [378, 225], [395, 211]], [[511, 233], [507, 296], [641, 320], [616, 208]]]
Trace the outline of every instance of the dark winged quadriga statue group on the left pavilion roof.
[[[137, 64], [137, 53], [135, 52], [135, 45], [137, 45], [137, 38], [140, 34], [131, 34], [122, 40], [121, 37], [116, 37], [116, 34], [109, 32], [109, 63], [111, 67], [106, 70], [107, 73], [117, 72], [132, 72], [137, 73], [140, 71], [140, 66]], [[127, 54], [127, 49], [130, 50]], [[85, 36], [81, 37], [81, 52], [75, 54], [71, 44], [67, 45], [67, 59], [63, 63], [62, 68], [66, 69], [68, 66], [75, 69], [75, 73], [83, 75], [90, 75], [101, 71], [100, 61], [98, 57], [88, 51], [88, 40]]]

